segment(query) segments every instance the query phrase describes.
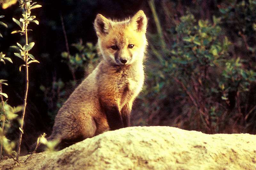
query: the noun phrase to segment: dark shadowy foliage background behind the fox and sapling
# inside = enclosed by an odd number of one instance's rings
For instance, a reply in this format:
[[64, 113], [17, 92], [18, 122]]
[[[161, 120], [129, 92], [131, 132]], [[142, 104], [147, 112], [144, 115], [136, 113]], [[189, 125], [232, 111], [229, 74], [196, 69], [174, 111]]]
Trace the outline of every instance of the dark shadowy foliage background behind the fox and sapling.
[[[147, 78], [133, 105], [132, 125], [175, 126], [205, 133], [256, 133], [256, 1], [156, 0], [155, 8], [150, 6], [153, 1], [147, 0], [37, 2], [43, 6], [33, 11], [40, 23], [29, 25], [33, 30], [29, 32], [29, 41], [36, 43], [31, 53], [40, 64], [29, 67], [23, 150], [40, 133], [51, 133], [61, 104], [97, 64], [97, 37], [93, 29], [96, 14], [125, 19], [140, 9], [149, 19]], [[17, 28], [12, 17], [20, 18], [17, 9], [15, 4], [0, 11], [9, 26], [0, 28], [4, 35], [0, 49], [14, 63], [1, 64], [0, 78], [8, 80], [4, 91], [12, 106], [22, 104], [25, 88], [25, 73], [19, 72], [18, 67], [21, 60], [9, 48], [16, 42], [25, 42], [16, 34], [10, 35]], [[70, 54], [74, 58], [77, 54], [78, 59], [87, 57], [80, 64], [76, 59], [68, 61], [63, 53], [67, 48], [61, 18]], [[93, 46], [85, 45], [86, 42]], [[85, 46], [79, 51], [81, 44]], [[95, 56], [90, 59], [89, 53]], [[14, 123], [7, 135], [9, 139], [18, 136], [15, 127], [18, 125]]]

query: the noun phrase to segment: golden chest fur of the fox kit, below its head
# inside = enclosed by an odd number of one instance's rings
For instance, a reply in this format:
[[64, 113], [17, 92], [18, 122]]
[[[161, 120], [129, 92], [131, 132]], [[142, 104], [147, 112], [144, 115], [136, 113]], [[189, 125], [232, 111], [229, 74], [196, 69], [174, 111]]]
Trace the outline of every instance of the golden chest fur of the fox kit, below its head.
[[[98, 92], [100, 97], [112, 98], [118, 105], [118, 110], [124, 107], [124, 104], [133, 101], [139, 94], [143, 81], [143, 65], [116, 66], [111, 69], [101, 70], [98, 75]], [[106, 81], [107, 80], [107, 81]]]

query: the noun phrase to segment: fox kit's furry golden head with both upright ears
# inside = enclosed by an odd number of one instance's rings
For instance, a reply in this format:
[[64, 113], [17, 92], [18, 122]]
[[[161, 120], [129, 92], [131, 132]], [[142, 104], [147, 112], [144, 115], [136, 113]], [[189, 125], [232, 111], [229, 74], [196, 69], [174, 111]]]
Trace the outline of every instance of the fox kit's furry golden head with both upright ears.
[[98, 14], [94, 28], [100, 53], [106, 62], [122, 66], [143, 61], [147, 45], [147, 17], [142, 10], [124, 21], [113, 21]]

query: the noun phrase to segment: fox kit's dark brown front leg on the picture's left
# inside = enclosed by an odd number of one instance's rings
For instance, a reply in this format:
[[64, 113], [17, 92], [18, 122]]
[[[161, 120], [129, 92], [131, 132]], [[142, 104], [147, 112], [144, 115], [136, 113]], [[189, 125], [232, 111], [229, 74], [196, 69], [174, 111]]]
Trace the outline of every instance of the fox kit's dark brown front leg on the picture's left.
[[104, 100], [101, 100], [100, 104], [106, 114], [110, 130], [124, 128], [124, 123], [121, 117], [121, 113], [118, 110], [118, 106], [112, 102], [106, 102]]

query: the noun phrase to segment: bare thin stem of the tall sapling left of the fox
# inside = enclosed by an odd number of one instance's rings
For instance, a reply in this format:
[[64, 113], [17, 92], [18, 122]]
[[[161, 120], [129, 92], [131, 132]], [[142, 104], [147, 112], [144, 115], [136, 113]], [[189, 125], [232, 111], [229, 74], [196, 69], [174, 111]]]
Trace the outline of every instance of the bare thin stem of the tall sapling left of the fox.
[[[26, 5], [25, 5], [26, 8]], [[27, 12], [26, 12], [26, 18], [27, 18]], [[25, 36], [26, 36], [26, 44], [28, 44], [28, 31], [27, 31], [28, 23], [25, 24]], [[24, 122], [24, 117], [25, 117], [25, 111], [26, 111], [26, 106], [27, 106], [27, 97], [28, 97], [28, 51], [26, 51], [26, 91], [25, 91], [25, 96], [24, 96], [24, 104], [23, 104], [23, 111], [22, 111], [22, 117], [21, 117], [21, 125], [20, 128], [23, 131], [23, 122]], [[20, 138], [19, 138], [19, 145], [17, 148], [17, 157], [16, 160], [19, 162], [19, 157], [20, 157], [20, 145], [21, 145], [21, 139], [22, 139], [22, 134], [23, 132], [20, 131]]]

